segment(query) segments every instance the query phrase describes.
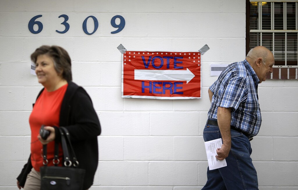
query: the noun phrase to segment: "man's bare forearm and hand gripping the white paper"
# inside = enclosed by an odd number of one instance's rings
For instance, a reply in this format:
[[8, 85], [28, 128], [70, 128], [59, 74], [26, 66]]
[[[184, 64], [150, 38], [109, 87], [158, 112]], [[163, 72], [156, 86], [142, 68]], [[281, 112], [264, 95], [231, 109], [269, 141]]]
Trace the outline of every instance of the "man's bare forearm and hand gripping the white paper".
[[228, 157], [231, 149], [231, 110], [232, 108], [224, 107], [218, 107], [217, 110], [217, 122], [223, 139], [223, 145], [216, 150], [215, 157], [218, 160]]

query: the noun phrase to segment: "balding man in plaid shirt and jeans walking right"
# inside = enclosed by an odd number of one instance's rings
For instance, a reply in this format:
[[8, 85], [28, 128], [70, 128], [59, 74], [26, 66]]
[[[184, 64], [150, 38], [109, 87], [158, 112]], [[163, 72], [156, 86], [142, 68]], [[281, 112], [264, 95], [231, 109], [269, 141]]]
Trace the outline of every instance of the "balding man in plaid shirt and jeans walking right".
[[207, 169], [207, 183], [202, 190], [258, 189], [257, 172], [252, 164], [250, 140], [262, 122], [258, 103], [258, 84], [272, 73], [274, 56], [257, 46], [244, 61], [226, 67], [209, 88], [211, 107], [204, 128], [205, 141], [222, 138], [216, 159], [226, 158], [227, 166]]

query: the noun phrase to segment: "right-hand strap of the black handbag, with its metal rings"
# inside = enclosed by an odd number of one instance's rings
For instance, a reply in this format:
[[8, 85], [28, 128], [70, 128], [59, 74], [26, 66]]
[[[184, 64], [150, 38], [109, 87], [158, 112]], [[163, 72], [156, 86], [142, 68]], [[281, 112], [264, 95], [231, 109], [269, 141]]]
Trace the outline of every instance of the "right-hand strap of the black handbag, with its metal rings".
[[[78, 167], [79, 162], [77, 161], [75, 151], [72, 147], [69, 132], [65, 127], [60, 127], [60, 130], [61, 130], [61, 143], [62, 143], [63, 156], [64, 156], [64, 166], [69, 167], [73, 165], [74, 167]], [[67, 152], [64, 152], [64, 150], [67, 150]], [[70, 150], [70, 154], [68, 152], [69, 150]], [[72, 159], [70, 157], [72, 157]]]

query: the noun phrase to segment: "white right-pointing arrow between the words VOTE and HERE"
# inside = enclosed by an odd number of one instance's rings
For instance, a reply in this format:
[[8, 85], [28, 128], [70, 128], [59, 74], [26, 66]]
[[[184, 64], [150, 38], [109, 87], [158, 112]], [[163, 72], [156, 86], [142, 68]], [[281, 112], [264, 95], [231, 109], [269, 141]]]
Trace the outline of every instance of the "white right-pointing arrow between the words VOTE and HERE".
[[186, 83], [188, 83], [193, 77], [195, 77], [195, 75], [188, 68], [186, 68], [186, 70], [134, 70], [135, 80], [186, 81]]

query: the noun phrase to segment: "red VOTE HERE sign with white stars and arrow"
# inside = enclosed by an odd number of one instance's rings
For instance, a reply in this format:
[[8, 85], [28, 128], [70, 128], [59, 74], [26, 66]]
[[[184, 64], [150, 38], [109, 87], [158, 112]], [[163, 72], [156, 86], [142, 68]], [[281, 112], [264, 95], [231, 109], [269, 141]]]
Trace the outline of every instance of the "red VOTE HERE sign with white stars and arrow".
[[122, 98], [201, 98], [201, 53], [125, 51]]

